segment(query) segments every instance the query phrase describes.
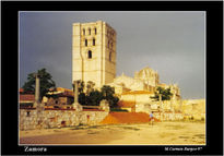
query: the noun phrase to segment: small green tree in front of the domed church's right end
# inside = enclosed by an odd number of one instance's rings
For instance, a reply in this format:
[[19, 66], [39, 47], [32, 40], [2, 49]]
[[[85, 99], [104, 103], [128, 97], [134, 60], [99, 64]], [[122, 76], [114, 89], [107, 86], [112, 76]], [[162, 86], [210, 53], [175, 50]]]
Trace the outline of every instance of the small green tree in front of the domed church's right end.
[[173, 96], [173, 94], [170, 92], [170, 87], [163, 88], [163, 87], [158, 86], [154, 94], [155, 94], [155, 96], [152, 98], [154, 98], [155, 100], [160, 100], [160, 95], [162, 95], [162, 100], [169, 100]]

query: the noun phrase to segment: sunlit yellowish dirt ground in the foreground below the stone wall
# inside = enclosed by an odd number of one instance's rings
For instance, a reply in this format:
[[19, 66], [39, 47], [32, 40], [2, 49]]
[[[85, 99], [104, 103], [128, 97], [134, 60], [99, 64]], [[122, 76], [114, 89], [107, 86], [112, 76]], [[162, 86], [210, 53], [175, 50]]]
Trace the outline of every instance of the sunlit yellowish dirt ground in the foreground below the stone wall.
[[20, 144], [205, 145], [205, 123], [156, 122], [20, 131]]

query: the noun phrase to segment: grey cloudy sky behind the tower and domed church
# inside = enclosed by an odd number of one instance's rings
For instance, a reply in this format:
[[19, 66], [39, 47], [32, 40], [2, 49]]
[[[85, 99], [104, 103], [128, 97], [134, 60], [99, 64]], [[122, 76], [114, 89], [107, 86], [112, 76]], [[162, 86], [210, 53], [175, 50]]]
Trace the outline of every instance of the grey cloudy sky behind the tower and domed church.
[[149, 67], [161, 83], [177, 83], [184, 99], [205, 98], [203, 11], [20, 12], [20, 87], [46, 68], [57, 86], [71, 88], [72, 23], [98, 20], [117, 32], [117, 76]]

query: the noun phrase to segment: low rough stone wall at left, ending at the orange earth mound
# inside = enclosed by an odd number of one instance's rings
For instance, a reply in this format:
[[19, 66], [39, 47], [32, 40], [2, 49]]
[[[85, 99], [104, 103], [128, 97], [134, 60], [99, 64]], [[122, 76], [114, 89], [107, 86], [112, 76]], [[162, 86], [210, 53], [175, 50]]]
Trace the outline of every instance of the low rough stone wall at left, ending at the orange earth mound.
[[108, 111], [72, 109], [46, 109], [42, 115], [36, 109], [20, 109], [20, 130], [74, 127], [79, 124], [98, 124]]

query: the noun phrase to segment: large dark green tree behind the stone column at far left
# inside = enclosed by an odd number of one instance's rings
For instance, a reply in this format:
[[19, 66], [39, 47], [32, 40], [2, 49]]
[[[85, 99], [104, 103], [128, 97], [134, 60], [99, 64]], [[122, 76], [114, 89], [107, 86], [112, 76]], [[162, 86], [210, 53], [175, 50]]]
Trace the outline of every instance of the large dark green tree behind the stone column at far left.
[[[49, 88], [56, 87], [56, 83], [52, 81], [52, 76], [50, 73], [46, 71], [46, 69], [40, 69], [37, 71], [37, 74], [39, 75], [39, 85], [40, 85], [40, 99], [46, 95], [47, 92], [49, 92]], [[33, 92], [35, 93], [35, 73], [30, 73], [27, 76], [27, 81], [23, 85], [23, 89], [25, 93]]]

